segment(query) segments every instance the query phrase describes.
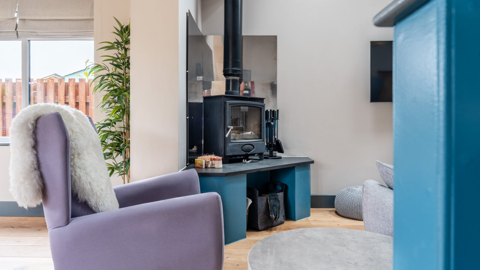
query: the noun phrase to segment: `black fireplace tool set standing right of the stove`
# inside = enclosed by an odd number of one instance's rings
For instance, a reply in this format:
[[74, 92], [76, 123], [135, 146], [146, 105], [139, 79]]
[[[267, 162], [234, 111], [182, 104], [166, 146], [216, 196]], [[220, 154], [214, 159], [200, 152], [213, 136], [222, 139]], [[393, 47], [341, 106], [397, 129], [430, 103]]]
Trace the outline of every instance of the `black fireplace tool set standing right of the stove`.
[[278, 110], [265, 110], [265, 159], [281, 159], [276, 153], [284, 153], [278, 135]]

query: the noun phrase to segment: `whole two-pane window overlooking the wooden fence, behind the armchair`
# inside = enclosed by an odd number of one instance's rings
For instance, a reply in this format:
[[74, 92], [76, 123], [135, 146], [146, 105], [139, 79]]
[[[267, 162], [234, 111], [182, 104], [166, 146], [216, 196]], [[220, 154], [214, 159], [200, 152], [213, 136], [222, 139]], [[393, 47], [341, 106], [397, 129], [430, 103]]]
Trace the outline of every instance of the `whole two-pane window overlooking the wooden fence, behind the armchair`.
[[12, 119], [29, 104], [68, 104], [93, 118], [93, 77], [84, 74], [93, 58], [93, 40], [0, 40], [0, 144], [8, 144]]

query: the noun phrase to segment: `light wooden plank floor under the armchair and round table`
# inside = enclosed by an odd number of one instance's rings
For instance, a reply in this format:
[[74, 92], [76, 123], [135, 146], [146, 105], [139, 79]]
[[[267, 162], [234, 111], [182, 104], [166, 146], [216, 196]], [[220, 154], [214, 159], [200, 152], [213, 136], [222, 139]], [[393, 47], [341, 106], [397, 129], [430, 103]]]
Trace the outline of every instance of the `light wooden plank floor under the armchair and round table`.
[[[225, 270], [246, 270], [248, 252], [268, 235], [298, 228], [335, 227], [363, 230], [363, 221], [339, 216], [335, 209], [312, 209], [312, 216], [265, 231], [247, 231], [247, 238], [225, 246]], [[0, 217], [2, 270], [53, 270], [44, 218]]]

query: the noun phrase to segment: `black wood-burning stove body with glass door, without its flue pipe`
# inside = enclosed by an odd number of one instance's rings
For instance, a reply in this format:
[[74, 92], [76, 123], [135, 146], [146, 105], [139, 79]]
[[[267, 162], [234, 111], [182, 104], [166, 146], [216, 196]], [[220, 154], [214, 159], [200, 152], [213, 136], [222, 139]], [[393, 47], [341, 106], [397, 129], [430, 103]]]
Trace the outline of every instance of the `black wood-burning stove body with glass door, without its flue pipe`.
[[265, 151], [264, 98], [219, 95], [204, 97], [204, 153], [246, 158]]

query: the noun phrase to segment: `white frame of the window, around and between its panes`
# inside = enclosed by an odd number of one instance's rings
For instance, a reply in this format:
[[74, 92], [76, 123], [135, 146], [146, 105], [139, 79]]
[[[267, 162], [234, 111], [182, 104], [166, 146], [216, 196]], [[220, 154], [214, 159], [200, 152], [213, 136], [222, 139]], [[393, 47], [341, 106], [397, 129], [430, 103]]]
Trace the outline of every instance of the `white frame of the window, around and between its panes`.
[[[14, 40], [14, 39], [12, 39]], [[94, 40], [91, 38], [45, 38], [45, 37], [22, 37], [22, 108], [26, 108], [30, 105], [30, 83], [25, 84], [24, 82], [30, 82], [30, 40]], [[95, 45], [94, 45], [95, 46]], [[9, 146], [10, 137], [0, 136], [0, 146]]]

